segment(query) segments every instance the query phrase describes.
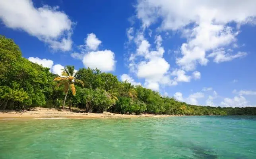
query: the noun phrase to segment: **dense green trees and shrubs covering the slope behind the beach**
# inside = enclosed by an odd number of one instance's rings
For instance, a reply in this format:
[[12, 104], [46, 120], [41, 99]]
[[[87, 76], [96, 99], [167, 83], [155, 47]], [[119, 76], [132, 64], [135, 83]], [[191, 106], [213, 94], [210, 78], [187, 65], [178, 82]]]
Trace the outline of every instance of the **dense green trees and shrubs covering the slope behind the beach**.
[[[70, 68], [74, 71], [72, 66], [65, 68], [67, 78], [58, 78], [49, 72], [49, 68], [23, 58], [13, 40], [0, 36], [0, 109], [58, 108], [66, 100], [66, 105], [84, 112], [256, 115], [255, 107], [193, 106], [162, 97], [158, 92], [140, 85], [121, 82], [111, 73], [97, 68], [81, 68], [75, 76]], [[84, 87], [74, 85], [76, 80]]]

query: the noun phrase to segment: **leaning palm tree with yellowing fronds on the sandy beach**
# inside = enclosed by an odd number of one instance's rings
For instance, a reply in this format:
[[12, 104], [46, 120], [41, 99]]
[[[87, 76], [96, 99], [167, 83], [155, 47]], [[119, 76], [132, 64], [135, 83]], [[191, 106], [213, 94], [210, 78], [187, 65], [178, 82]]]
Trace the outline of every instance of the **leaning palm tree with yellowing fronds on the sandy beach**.
[[76, 87], [75, 87], [74, 83], [80, 83], [83, 86], [83, 81], [74, 78], [75, 77], [74, 69], [75, 69], [74, 66], [66, 66], [63, 69], [62, 76], [53, 79], [53, 81], [59, 81], [59, 83], [57, 84], [57, 87], [59, 87], [60, 85], [64, 85], [64, 93], [66, 95], [64, 98], [62, 109], [64, 109], [64, 106], [65, 106], [69, 87], [72, 91], [72, 94], [76, 95]]

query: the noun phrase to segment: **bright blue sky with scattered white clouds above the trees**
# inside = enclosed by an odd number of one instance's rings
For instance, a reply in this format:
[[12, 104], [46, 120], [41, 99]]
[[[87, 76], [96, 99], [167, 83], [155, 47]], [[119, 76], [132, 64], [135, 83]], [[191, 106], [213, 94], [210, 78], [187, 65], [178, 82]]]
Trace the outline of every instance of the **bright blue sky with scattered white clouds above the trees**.
[[0, 0], [0, 34], [189, 104], [256, 106], [255, 0]]

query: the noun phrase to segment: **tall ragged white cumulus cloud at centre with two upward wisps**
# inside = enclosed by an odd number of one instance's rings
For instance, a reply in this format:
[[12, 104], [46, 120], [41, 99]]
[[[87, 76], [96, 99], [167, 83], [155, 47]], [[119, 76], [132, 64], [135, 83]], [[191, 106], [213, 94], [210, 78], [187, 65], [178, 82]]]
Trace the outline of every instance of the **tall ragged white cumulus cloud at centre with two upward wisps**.
[[176, 81], [169, 76], [170, 64], [163, 58], [165, 52], [162, 37], [155, 36], [155, 49], [144, 38], [142, 32], [133, 38], [136, 44], [136, 53], [130, 55], [129, 68], [138, 78], [144, 78], [144, 87], [159, 91], [160, 85], [176, 85]]

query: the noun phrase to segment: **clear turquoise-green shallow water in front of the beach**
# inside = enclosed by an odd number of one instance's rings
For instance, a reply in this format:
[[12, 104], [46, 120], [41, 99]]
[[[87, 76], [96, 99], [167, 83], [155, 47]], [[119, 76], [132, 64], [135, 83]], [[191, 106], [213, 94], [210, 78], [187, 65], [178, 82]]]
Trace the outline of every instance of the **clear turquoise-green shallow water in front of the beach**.
[[0, 159], [256, 159], [256, 117], [0, 120]]

